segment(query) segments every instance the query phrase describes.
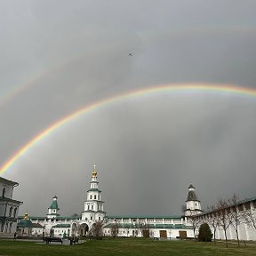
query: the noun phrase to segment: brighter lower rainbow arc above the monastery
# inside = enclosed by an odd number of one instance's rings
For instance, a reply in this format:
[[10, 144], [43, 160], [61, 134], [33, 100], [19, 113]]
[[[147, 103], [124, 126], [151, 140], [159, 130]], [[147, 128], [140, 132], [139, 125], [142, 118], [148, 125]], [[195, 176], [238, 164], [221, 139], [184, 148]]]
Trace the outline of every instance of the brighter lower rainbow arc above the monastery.
[[67, 124], [69, 121], [75, 119], [77, 116], [81, 116], [92, 109], [102, 107], [109, 103], [114, 103], [116, 101], [139, 98], [142, 95], [153, 94], [156, 92], [185, 92], [185, 91], [202, 91], [202, 92], [228, 92], [235, 94], [242, 94], [247, 96], [256, 96], [256, 90], [252, 88], [242, 88], [236, 85], [226, 85], [226, 84], [165, 84], [156, 85], [153, 87], [141, 88], [139, 90], [134, 90], [130, 92], [124, 92], [121, 94], [114, 95], [113, 97], [95, 101], [90, 105], [80, 108], [75, 112], [63, 117], [56, 123], [50, 125], [43, 132], [37, 134], [32, 140], [29, 140], [22, 148], [18, 150], [8, 161], [6, 161], [0, 168], [0, 173], [7, 171], [12, 164], [14, 164], [21, 156], [23, 156], [29, 148], [32, 148], [40, 140], [43, 140], [48, 134], [60, 128], [60, 126]]

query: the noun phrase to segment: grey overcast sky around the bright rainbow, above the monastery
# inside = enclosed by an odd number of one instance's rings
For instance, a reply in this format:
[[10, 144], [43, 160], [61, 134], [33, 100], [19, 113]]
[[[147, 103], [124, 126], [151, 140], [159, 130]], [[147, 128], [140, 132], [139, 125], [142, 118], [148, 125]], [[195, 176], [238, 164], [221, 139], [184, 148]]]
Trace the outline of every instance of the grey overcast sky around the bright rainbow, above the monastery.
[[[0, 164], [92, 102], [157, 84], [256, 87], [254, 0], [0, 0]], [[129, 53], [132, 52], [132, 57]], [[181, 86], [181, 85], [180, 85]], [[255, 88], [256, 89], [256, 88]], [[256, 97], [159, 92], [63, 125], [2, 176], [20, 215], [81, 213], [97, 165], [108, 214], [256, 196]]]

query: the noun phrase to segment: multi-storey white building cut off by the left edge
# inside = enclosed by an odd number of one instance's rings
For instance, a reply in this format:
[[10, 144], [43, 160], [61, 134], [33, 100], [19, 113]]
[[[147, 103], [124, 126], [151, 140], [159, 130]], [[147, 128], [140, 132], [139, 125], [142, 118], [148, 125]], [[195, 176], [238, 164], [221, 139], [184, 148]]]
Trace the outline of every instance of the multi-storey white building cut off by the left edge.
[[22, 202], [12, 199], [13, 188], [19, 183], [0, 177], [0, 237], [13, 237]]

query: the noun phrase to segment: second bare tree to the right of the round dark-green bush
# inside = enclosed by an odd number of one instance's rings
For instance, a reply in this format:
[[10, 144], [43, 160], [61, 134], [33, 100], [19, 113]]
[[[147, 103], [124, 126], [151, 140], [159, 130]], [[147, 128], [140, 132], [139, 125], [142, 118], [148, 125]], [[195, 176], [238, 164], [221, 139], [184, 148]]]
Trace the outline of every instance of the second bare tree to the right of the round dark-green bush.
[[223, 229], [226, 241], [226, 247], [228, 248], [228, 237], [227, 237], [227, 229], [230, 226], [230, 220], [228, 218], [228, 202], [222, 198], [219, 199], [217, 203], [217, 216], [219, 221], [219, 226]]

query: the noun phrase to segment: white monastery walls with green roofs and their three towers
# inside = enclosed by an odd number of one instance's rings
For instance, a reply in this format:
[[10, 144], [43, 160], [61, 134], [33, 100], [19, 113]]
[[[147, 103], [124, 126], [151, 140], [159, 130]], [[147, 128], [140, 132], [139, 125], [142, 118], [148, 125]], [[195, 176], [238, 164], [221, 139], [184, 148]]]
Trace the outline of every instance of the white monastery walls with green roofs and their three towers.
[[[104, 212], [104, 202], [101, 200], [101, 191], [97, 180], [98, 173], [94, 164], [92, 171], [92, 181], [87, 190], [86, 200], [84, 201], [84, 212], [80, 216], [60, 216], [57, 196], [52, 198], [52, 204], [48, 208], [48, 213], [44, 217], [30, 216], [32, 224], [29, 236], [91, 236], [95, 223], [101, 223], [103, 226], [103, 236], [150, 236], [154, 238], [194, 238], [198, 234], [200, 224], [207, 222], [211, 225], [212, 218], [220, 215], [220, 212], [203, 212], [201, 202], [196, 196], [195, 188], [192, 184], [188, 187], [188, 197], [186, 209], [183, 215], [168, 216], [150, 216], [150, 215], [115, 215], [108, 216]], [[231, 210], [230, 210], [231, 209]], [[256, 198], [244, 200], [237, 205], [228, 206], [224, 212], [232, 212], [236, 209], [238, 212], [251, 212], [252, 219], [255, 220]], [[215, 217], [214, 217], [215, 216]], [[244, 215], [243, 215], [244, 216]], [[248, 215], [249, 216], [249, 215]], [[22, 219], [22, 218], [20, 218]], [[18, 222], [28, 220], [28, 213]], [[22, 226], [22, 225], [21, 225]], [[24, 228], [24, 227], [23, 227]], [[227, 228], [228, 239], [236, 239], [236, 232], [232, 225]], [[256, 240], [256, 230], [247, 221], [239, 222], [240, 240]], [[223, 228], [219, 225], [215, 228], [216, 239], [224, 239]], [[22, 234], [20, 235], [22, 236]]]

